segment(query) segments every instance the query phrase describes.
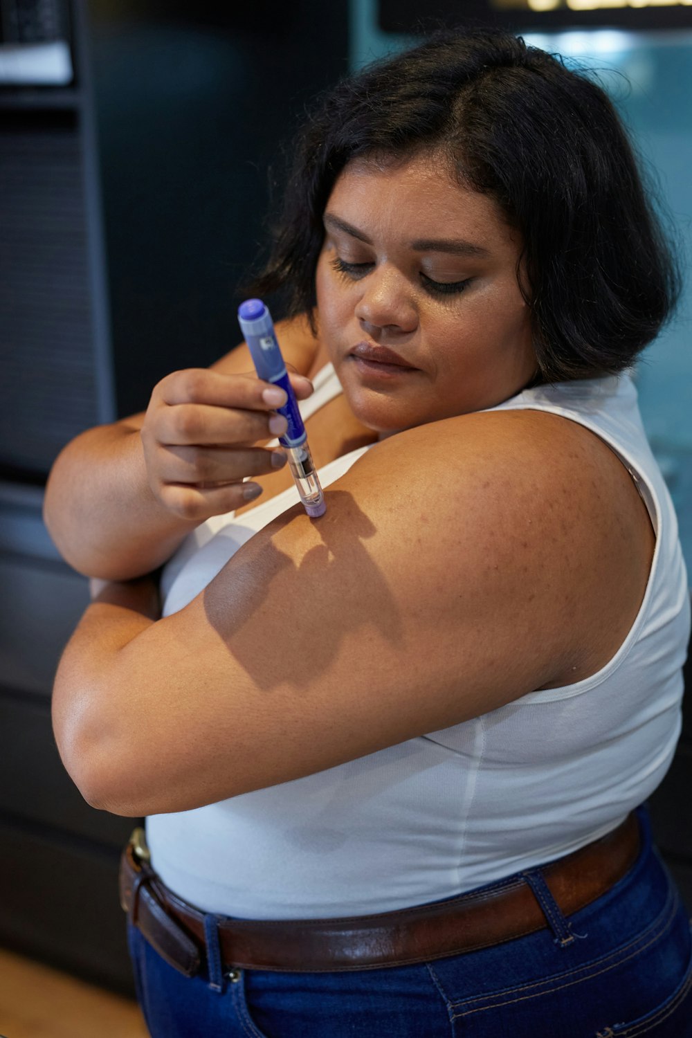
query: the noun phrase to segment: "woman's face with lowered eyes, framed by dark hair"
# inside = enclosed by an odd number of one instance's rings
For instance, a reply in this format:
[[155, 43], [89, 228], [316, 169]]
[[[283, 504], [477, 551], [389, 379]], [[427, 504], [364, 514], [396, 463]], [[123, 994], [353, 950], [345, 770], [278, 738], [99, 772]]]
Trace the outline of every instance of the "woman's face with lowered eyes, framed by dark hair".
[[442, 162], [355, 160], [325, 210], [320, 335], [351, 407], [392, 432], [492, 407], [536, 371], [521, 242]]

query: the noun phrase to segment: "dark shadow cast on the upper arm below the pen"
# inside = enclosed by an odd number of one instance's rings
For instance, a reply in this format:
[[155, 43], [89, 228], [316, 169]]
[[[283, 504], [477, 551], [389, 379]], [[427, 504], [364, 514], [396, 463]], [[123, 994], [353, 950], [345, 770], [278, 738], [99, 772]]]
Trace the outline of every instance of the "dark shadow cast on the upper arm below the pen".
[[[254, 684], [300, 690], [328, 671], [345, 638], [403, 639], [399, 607], [368, 553], [377, 527], [351, 493], [327, 491], [311, 522], [297, 506], [233, 557], [233, 579], [215, 580], [204, 610]], [[283, 545], [286, 545], [284, 550]]]

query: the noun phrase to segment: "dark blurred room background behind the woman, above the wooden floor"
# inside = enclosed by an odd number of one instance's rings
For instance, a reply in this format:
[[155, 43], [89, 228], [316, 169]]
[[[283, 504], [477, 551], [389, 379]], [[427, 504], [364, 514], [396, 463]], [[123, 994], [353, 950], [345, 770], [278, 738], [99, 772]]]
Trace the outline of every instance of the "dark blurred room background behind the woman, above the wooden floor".
[[[73, 436], [143, 409], [165, 374], [239, 340], [281, 145], [310, 99], [437, 24], [526, 31], [614, 70], [689, 240], [692, 7], [430, 0], [424, 21], [418, 7], [0, 0], [0, 946], [113, 990], [132, 993], [116, 893], [132, 823], [81, 800], [53, 742], [52, 677], [87, 590], [46, 532], [43, 487]], [[689, 559], [689, 303], [682, 312], [639, 381]], [[652, 807], [692, 907], [690, 740], [688, 728]]]

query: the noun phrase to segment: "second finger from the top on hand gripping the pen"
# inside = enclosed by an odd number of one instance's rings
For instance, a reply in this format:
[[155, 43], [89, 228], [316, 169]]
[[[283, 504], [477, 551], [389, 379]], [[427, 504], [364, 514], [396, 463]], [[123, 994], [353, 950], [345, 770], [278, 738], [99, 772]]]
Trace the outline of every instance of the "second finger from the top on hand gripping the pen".
[[281, 436], [285, 432], [286, 420], [271, 411], [175, 404], [159, 408], [155, 429], [159, 443], [230, 445]]

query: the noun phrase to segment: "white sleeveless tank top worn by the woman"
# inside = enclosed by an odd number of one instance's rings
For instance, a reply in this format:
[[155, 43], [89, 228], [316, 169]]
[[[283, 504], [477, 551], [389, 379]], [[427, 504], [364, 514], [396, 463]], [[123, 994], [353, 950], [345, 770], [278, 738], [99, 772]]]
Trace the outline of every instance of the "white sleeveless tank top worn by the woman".
[[[329, 365], [311, 413], [340, 387]], [[531, 408], [593, 430], [621, 458], [657, 535], [639, 613], [593, 677], [304, 778], [147, 820], [164, 882], [248, 919], [367, 914], [441, 898], [559, 857], [614, 828], [663, 778], [681, 728], [687, 575], [669, 494], [629, 376], [527, 389]], [[367, 447], [321, 470], [328, 486]], [[298, 499], [210, 520], [163, 575], [165, 614]], [[539, 646], [536, 647], [539, 651]]]

